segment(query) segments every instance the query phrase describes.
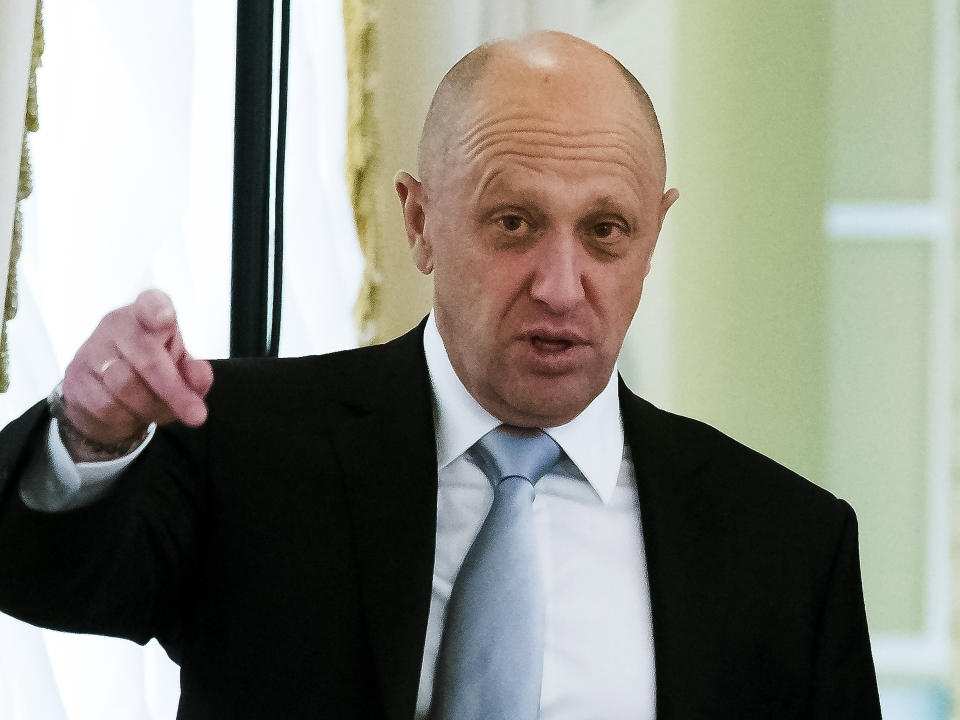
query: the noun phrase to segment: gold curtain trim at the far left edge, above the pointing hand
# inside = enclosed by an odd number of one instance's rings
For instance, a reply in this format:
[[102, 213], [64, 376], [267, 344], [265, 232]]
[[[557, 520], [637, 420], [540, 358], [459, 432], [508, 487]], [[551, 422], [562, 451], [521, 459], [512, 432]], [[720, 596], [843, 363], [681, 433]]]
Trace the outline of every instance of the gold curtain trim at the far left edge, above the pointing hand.
[[20, 151], [20, 177], [17, 182], [17, 204], [13, 215], [13, 239], [10, 243], [10, 266], [7, 270], [7, 292], [3, 304], [3, 322], [0, 327], [0, 392], [10, 387], [9, 348], [7, 347], [7, 322], [17, 314], [17, 261], [23, 242], [23, 213], [20, 203], [33, 192], [33, 177], [30, 168], [30, 150], [27, 133], [36, 132], [40, 123], [37, 114], [37, 68], [43, 55], [43, 4], [37, 0], [37, 12], [33, 20], [33, 50], [30, 58], [30, 82], [27, 88], [27, 112], [23, 121], [23, 146]]

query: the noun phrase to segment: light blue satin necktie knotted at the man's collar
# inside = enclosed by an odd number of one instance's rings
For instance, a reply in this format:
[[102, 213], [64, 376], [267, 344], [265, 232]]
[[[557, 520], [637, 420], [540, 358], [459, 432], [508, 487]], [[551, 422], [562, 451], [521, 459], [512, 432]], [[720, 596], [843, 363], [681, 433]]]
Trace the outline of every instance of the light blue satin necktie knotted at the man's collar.
[[431, 720], [536, 720], [543, 680], [544, 600], [533, 486], [560, 458], [540, 430], [506, 425], [472, 448], [493, 506], [447, 604]]

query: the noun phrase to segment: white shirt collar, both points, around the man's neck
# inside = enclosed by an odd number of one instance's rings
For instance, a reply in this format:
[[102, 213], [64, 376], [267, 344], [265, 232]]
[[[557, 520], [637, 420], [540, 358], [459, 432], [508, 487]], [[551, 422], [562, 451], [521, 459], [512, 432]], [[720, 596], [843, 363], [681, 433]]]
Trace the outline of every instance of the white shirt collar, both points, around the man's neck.
[[[433, 313], [427, 318], [423, 350], [433, 387], [437, 468], [452, 463], [481, 437], [500, 425], [484, 410], [450, 364]], [[617, 394], [617, 373], [577, 417], [565, 425], [544, 428], [557, 441], [603, 502], [613, 496], [623, 460], [623, 421]]]

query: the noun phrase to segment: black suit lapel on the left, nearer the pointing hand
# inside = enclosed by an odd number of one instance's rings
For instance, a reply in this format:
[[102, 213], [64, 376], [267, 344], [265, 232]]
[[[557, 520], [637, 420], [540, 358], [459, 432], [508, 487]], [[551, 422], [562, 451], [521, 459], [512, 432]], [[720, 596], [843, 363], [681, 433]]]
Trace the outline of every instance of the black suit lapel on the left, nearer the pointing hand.
[[437, 455], [423, 325], [384, 346], [369, 411], [333, 432], [387, 717], [414, 715], [436, 543]]

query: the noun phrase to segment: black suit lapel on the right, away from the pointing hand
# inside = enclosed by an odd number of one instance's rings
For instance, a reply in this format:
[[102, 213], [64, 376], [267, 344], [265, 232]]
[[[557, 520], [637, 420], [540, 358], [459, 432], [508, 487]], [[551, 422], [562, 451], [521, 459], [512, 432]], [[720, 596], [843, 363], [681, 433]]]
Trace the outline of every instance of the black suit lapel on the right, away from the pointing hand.
[[[710, 453], [671, 428], [673, 416], [633, 395], [621, 381], [624, 430], [636, 469], [650, 584], [657, 716], [707, 717], [723, 657], [729, 558], [718, 547], [713, 488], [700, 472]], [[701, 713], [705, 713], [701, 715]]]

